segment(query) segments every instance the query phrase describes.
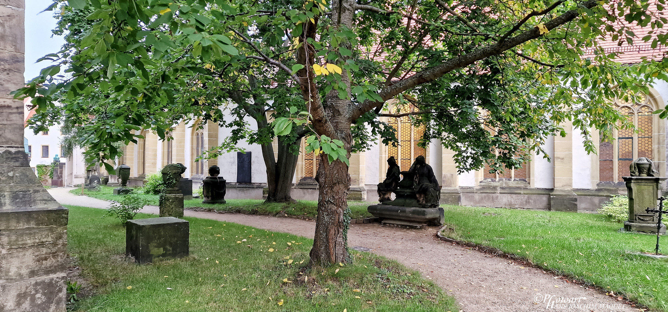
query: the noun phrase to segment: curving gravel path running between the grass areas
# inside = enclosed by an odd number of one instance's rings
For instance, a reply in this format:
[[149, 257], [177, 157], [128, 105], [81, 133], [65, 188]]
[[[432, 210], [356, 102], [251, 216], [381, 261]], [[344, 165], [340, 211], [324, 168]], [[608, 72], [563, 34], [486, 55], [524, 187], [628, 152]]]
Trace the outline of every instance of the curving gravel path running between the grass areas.
[[[104, 200], [75, 196], [67, 190], [55, 188], [49, 193], [61, 204], [106, 207]], [[142, 212], [157, 214], [158, 208], [148, 206]], [[294, 218], [192, 210], [186, 210], [185, 214], [308, 238], [313, 238], [315, 232], [315, 222]], [[464, 312], [639, 311], [539, 269], [440, 241], [435, 237], [437, 230], [436, 227], [405, 229], [377, 223], [351, 224], [348, 239], [351, 247], [367, 247], [377, 255], [422, 272], [424, 277], [454, 295]], [[564, 303], [564, 299], [568, 299], [568, 303]]]

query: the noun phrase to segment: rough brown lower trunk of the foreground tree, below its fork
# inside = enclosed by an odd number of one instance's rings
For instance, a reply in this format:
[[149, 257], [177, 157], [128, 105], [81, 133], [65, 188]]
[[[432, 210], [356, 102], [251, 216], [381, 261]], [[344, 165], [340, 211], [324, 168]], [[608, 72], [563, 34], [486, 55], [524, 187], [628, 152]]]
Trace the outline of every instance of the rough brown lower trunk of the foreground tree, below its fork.
[[350, 263], [347, 242], [350, 218], [345, 215], [350, 186], [348, 166], [340, 160], [327, 164], [327, 155], [321, 154], [316, 180], [319, 186], [318, 215], [311, 264]]

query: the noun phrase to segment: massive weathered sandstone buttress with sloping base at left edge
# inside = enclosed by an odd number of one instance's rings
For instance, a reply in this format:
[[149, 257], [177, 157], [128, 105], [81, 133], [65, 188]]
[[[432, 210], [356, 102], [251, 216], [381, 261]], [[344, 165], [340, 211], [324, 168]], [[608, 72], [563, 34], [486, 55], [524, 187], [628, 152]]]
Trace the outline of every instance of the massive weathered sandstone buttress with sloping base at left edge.
[[23, 102], [9, 96], [24, 82], [24, 8], [0, 0], [0, 310], [64, 312], [67, 209], [30, 169]]

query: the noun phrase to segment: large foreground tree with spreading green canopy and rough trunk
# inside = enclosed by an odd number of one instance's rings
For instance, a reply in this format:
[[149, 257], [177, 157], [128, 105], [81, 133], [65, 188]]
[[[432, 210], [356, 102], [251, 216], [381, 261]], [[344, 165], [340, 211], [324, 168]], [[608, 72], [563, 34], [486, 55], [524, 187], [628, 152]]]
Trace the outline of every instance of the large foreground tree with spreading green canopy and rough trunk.
[[[38, 113], [59, 98], [83, 99], [63, 101], [65, 111], [99, 107], [87, 128], [92, 158], [114, 157], [111, 143], [134, 142], [140, 127], [163, 138], [189, 116], [224, 120], [220, 108], [234, 92], [246, 99], [237, 104], [272, 100], [283, 107], [274, 134], [297, 138], [305, 127], [315, 136], [307, 150], [323, 151], [323, 236], [311, 255], [323, 263], [347, 259], [341, 198], [353, 138], [392, 140], [378, 117], [424, 124], [421, 144], [453, 150], [460, 171], [485, 162], [502, 170], [542, 152], [547, 136], [565, 135], [569, 120], [595, 152], [591, 129], [628, 126], [611, 99], [668, 80], [663, 60], [622, 64], [603, 45], [665, 45], [663, 0], [69, 0], [63, 12], [68, 6], [90, 10], [90, 29], [47, 55], [60, 64], [16, 96], [33, 97]], [[377, 132], [365, 134], [365, 123]]]

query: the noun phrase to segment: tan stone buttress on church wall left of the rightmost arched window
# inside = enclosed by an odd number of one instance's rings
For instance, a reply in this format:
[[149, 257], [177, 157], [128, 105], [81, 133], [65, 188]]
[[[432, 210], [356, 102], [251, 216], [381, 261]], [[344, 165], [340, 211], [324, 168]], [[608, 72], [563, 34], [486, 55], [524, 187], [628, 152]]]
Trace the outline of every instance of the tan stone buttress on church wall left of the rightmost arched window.
[[[554, 136], [554, 190], [550, 210], [578, 210], [578, 196], [573, 192], [573, 124], [564, 124], [566, 137]], [[589, 177], [587, 177], [589, 178]]]

